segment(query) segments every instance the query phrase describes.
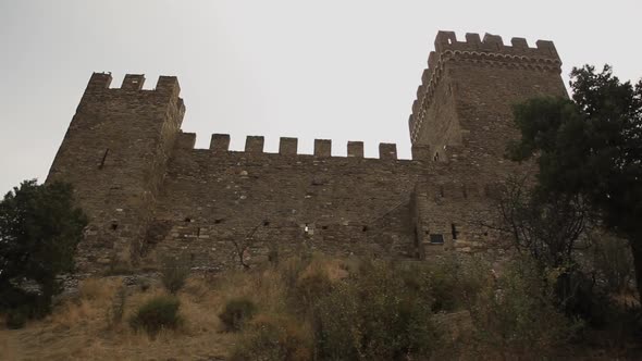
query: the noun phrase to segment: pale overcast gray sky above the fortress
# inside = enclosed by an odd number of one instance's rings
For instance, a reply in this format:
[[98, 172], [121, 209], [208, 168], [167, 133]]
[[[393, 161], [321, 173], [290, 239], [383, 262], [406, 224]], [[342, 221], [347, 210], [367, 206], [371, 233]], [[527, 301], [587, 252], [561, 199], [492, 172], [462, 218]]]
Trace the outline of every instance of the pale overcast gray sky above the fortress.
[[439, 29], [554, 40], [565, 78], [573, 65], [642, 76], [640, 0], [0, 0], [0, 192], [45, 180], [91, 72], [144, 73], [145, 88], [176, 75], [185, 132], [207, 148], [229, 133], [396, 142]]

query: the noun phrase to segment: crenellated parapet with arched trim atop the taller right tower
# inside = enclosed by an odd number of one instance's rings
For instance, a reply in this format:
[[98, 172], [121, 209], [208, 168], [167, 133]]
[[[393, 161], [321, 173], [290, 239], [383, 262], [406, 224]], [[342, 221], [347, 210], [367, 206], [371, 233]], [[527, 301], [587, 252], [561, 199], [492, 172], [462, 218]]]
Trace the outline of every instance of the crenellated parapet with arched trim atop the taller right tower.
[[560, 73], [561, 61], [553, 41], [538, 40], [531, 48], [524, 38], [511, 38], [505, 45], [498, 35], [467, 33], [466, 40], [459, 41], [454, 32], [439, 32], [434, 51], [428, 58], [428, 67], [421, 75], [417, 88], [417, 99], [412, 102], [412, 113], [408, 120], [410, 139], [415, 144], [428, 105], [434, 98], [435, 89], [448, 62], [468, 63], [478, 66], [556, 72]]

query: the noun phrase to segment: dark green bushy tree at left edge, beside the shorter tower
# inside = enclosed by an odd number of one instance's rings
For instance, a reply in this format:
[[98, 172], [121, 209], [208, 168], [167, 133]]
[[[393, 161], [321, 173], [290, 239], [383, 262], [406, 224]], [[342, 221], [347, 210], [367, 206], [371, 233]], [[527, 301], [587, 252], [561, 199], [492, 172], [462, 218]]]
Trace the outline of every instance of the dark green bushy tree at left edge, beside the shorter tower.
[[[86, 224], [69, 184], [25, 180], [9, 191], [0, 201], [0, 310], [45, 314], [59, 291], [57, 275], [73, 270]], [[38, 291], [27, 292], [25, 282]]]

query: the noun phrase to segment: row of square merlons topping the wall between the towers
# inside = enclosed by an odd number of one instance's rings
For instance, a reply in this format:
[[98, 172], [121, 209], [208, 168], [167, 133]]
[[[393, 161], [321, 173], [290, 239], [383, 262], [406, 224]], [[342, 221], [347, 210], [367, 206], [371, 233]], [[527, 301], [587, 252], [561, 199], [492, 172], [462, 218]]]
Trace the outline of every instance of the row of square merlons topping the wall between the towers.
[[[195, 149], [196, 134], [195, 133], [180, 133], [176, 140], [176, 147], [183, 150]], [[268, 153], [263, 150], [264, 137], [262, 136], [247, 136], [245, 139], [245, 153], [261, 154]], [[238, 152], [230, 150], [230, 135], [229, 134], [212, 134], [209, 150], [214, 153]], [[271, 153], [275, 154], [275, 153]], [[347, 155], [336, 157], [332, 155], [332, 140], [330, 139], [314, 139], [314, 152], [312, 154], [305, 154], [298, 152], [298, 138], [281, 137], [279, 139], [280, 155], [313, 155], [317, 158], [363, 158], [363, 142], [348, 141]], [[379, 144], [379, 159], [381, 160], [397, 160], [397, 145], [390, 142]]]

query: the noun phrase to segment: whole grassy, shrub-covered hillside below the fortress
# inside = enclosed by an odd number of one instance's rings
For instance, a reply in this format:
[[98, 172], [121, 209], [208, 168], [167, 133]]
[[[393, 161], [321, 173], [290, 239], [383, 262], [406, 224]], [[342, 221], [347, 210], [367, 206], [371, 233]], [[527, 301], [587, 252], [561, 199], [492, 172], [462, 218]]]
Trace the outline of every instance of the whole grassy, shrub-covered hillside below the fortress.
[[[175, 296], [175, 326], [134, 328], [141, 306], [173, 297], [160, 278], [83, 281], [46, 319], [0, 329], [0, 359], [528, 360], [630, 353], [618, 343], [589, 345], [591, 327], [558, 312], [539, 273], [523, 261], [499, 269], [476, 258], [404, 263], [314, 256], [192, 274]], [[607, 334], [598, 338], [618, 337]]]

